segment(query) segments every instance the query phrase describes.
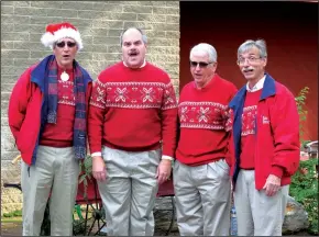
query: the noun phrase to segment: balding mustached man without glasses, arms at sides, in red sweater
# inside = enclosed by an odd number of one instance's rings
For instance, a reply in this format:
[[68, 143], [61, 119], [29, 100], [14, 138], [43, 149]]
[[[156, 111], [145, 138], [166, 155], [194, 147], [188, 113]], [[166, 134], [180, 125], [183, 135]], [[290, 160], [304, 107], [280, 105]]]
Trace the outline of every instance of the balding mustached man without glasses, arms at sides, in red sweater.
[[168, 75], [145, 61], [139, 29], [121, 35], [122, 59], [94, 84], [89, 109], [92, 172], [108, 235], [152, 236], [158, 189], [170, 176], [177, 104]]

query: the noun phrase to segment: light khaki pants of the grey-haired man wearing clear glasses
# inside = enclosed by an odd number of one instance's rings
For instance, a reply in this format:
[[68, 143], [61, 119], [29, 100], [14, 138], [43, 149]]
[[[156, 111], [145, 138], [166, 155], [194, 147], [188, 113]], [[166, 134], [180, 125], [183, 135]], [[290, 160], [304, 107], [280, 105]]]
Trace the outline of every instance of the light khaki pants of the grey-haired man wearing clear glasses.
[[239, 236], [282, 236], [289, 185], [273, 196], [255, 189], [254, 170], [240, 170], [235, 191]]

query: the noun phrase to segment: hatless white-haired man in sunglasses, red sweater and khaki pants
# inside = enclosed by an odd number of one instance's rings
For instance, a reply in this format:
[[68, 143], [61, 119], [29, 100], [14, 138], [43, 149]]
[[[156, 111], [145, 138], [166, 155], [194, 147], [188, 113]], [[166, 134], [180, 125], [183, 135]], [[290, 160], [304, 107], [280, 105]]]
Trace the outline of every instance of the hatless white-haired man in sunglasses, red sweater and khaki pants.
[[231, 180], [228, 104], [237, 92], [217, 69], [209, 44], [190, 50], [194, 81], [178, 102], [180, 135], [174, 166], [177, 224], [182, 236], [229, 236]]

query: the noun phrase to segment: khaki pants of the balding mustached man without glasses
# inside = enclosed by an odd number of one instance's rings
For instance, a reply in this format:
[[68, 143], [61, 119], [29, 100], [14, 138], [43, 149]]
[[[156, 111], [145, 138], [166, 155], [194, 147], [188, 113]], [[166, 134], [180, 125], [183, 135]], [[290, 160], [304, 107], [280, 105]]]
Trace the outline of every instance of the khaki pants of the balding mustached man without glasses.
[[98, 185], [108, 236], [153, 236], [161, 149], [130, 153], [103, 147], [102, 157], [107, 181]]

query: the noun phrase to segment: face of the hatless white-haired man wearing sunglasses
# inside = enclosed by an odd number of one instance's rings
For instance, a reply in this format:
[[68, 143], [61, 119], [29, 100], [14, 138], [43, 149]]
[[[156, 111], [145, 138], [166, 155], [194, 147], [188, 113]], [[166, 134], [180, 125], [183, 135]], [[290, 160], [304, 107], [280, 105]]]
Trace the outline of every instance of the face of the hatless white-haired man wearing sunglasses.
[[190, 72], [198, 88], [204, 88], [212, 78], [217, 63], [209, 61], [206, 52], [194, 52], [190, 56]]

